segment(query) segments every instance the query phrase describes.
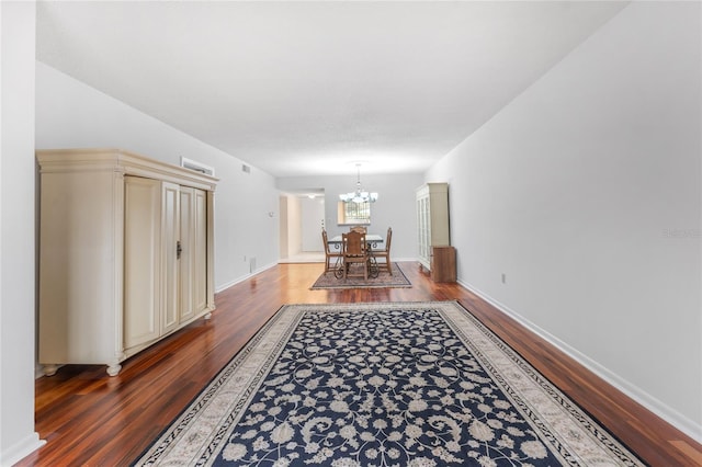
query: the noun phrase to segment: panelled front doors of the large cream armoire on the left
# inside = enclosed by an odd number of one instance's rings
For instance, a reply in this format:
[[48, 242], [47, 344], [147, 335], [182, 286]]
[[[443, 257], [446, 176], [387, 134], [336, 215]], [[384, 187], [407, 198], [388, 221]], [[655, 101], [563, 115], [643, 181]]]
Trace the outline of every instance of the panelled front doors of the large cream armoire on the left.
[[125, 349], [207, 307], [207, 196], [203, 190], [125, 176]]

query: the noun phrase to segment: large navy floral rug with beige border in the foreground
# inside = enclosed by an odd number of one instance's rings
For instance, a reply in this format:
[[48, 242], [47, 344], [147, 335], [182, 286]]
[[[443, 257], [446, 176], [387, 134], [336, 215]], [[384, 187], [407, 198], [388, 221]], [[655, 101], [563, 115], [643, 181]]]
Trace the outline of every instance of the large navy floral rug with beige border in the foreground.
[[454, 301], [287, 305], [135, 465], [642, 466]]

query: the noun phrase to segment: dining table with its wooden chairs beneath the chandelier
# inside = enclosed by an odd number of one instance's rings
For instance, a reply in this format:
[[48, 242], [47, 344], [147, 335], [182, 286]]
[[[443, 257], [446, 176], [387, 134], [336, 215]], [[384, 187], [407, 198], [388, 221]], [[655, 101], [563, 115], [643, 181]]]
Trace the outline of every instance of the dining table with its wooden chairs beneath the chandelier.
[[349, 231], [328, 238], [321, 229], [325, 248], [325, 274], [331, 273], [339, 281], [359, 277], [367, 281], [381, 274], [393, 275], [390, 246], [393, 228], [383, 237], [369, 234], [364, 226], [353, 226]]

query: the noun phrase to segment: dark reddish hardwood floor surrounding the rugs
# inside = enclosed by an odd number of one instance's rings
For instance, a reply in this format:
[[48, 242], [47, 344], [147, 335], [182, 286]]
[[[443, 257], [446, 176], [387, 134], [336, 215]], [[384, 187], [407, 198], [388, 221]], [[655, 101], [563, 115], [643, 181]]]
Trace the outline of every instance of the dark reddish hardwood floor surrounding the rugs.
[[36, 431], [47, 443], [20, 466], [128, 465], [282, 306], [457, 299], [652, 466], [702, 465], [702, 446], [456, 284], [400, 263], [411, 288], [309, 291], [324, 265], [280, 264], [216, 296], [210, 321], [127, 360], [59, 368], [36, 380]]

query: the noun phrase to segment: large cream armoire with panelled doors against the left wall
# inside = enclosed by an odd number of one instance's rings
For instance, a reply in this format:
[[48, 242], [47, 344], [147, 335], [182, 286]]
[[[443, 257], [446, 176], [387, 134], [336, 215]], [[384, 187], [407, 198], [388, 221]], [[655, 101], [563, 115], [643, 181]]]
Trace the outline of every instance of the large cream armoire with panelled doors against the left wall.
[[38, 361], [125, 358], [214, 310], [217, 179], [118, 149], [41, 150]]

